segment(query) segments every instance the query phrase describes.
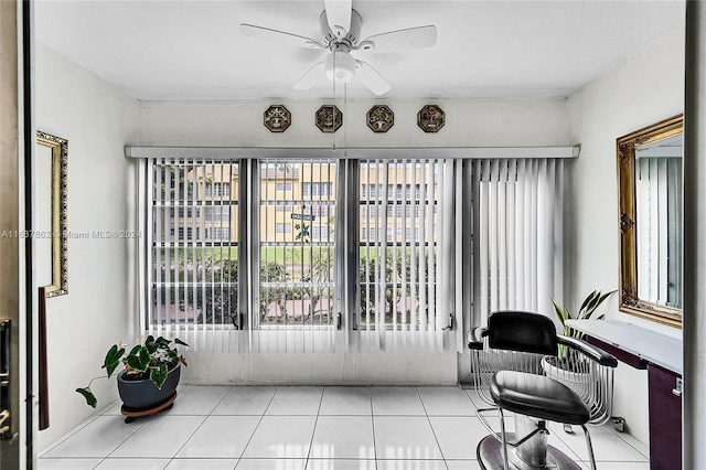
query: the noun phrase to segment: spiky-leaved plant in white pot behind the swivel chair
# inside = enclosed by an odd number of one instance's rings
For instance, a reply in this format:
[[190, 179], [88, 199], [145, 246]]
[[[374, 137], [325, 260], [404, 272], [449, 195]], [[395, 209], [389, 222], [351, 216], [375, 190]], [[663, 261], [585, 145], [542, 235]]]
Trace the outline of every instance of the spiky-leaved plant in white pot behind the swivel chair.
[[[563, 328], [563, 334], [565, 337], [571, 337], [577, 340], [584, 339], [584, 333], [578, 330], [573, 329], [568, 324], [566, 324], [567, 320], [602, 320], [606, 316], [603, 313], [596, 314], [598, 307], [600, 307], [606, 299], [608, 299], [611, 295], [613, 295], [616, 290], [611, 290], [610, 292], [602, 293], [600, 290], [593, 290], [589, 293], [581, 307], [578, 309], [578, 312], [574, 316], [568, 309], [559, 306], [556, 300], [552, 299], [552, 305], [554, 306], [554, 314]], [[593, 317], [596, 314], [596, 317]], [[564, 345], [559, 345], [559, 351], [556, 357], [545, 356], [542, 360], [542, 366], [545, 373], [549, 376], [554, 376], [556, 378], [557, 375], [563, 377], [564, 382], [576, 382], [584, 383], [586, 381], [585, 374], [582, 371], [586, 366], [579, 357], [576, 355], [576, 351], [566, 348]], [[557, 370], [561, 370], [560, 372]]]

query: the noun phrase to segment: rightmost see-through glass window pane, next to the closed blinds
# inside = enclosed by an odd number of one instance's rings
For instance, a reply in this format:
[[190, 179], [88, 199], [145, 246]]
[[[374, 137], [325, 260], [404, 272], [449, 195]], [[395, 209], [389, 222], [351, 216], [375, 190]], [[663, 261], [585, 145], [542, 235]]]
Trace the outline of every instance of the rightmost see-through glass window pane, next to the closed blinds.
[[[437, 164], [432, 160], [361, 163], [361, 325], [420, 328], [436, 289]], [[430, 196], [430, 197], [429, 197]], [[425, 327], [426, 328], [426, 327]]]

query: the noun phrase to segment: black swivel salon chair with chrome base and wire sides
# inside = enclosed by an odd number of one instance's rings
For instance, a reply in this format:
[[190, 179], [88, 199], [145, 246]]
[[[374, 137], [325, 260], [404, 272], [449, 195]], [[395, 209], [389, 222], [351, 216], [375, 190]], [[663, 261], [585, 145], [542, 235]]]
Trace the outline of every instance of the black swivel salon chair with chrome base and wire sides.
[[[491, 430], [478, 445], [483, 469], [580, 469], [564, 452], [547, 445], [546, 421], [580, 426], [596, 469], [587, 424], [610, 418], [612, 377], [618, 361], [612, 355], [571, 337], [556, 333], [545, 316], [498, 311], [488, 327], [469, 332], [473, 375], [479, 397], [491, 408], [480, 409]], [[498, 410], [500, 434], [485, 414]], [[515, 414], [515, 432], [505, 431], [504, 413]]]

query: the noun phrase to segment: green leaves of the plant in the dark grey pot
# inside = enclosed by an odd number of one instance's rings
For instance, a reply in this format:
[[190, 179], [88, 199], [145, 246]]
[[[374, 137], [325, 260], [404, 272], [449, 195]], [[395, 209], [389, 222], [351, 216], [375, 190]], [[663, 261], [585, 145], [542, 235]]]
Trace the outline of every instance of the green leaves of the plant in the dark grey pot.
[[125, 365], [125, 378], [131, 381], [150, 380], [162, 388], [167, 381], [169, 371], [174, 368], [179, 363], [186, 365], [186, 360], [179, 352], [176, 345], [189, 346], [180, 339], [168, 340], [164, 337], [154, 338], [151, 334], [136, 344], [126, 355], [126, 344], [114, 344], [108, 350], [106, 359], [100, 366], [106, 370], [106, 375], [99, 375], [90, 380], [87, 386], [76, 388], [76, 392], [86, 398], [86, 404], [94, 408], [98, 404], [98, 399], [93, 394], [90, 385], [98, 378], [110, 378], [122, 363]]

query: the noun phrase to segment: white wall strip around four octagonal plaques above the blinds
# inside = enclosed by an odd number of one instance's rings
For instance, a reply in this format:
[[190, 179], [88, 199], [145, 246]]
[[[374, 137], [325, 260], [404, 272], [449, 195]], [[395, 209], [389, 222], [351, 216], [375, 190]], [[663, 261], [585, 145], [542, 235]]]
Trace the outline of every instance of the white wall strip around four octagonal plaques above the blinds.
[[[335, 104], [343, 126], [323, 133], [314, 126], [322, 105]], [[374, 133], [365, 125], [373, 105], [387, 105], [395, 125]], [[417, 113], [437, 104], [446, 114], [446, 126], [437, 133], [417, 127]], [[263, 125], [270, 105], [285, 105], [292, 124], [282, 133]], [[419, 100], [231, 100], [141, 102], [140, 142], [145, 146], [239, 147], [513, 147], [571, 145], [565, 99], [419, 99]]]

